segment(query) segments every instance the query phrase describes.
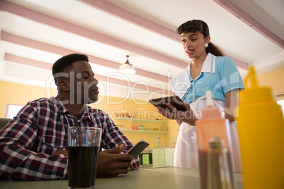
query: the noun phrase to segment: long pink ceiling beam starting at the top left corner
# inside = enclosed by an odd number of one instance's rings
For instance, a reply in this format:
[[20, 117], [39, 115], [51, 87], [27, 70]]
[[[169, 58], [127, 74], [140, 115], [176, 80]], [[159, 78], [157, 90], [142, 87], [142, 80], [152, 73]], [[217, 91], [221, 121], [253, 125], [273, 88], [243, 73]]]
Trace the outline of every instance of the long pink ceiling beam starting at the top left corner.
[[125, 51], [131, 51], [136, 54], [141, 54], [141, 56], [146, 56], [150, 59], [161, 61], [163, 63], [167, 63], [172, 66], [177, 66], [179, 68], [186, 68], [188, 65], [188, 63], [186, 62], [173, 59], [170, 56], [165, 56], [155, 51], [150, 51], [148, 49], [138, 47], [134, 44], [123, 42], [119, 39], [115, 39], [113, 37], [103, 35], [93, 30], [82, 28], [78, 25], [74, 25], [64, 20], [59, 20], [52, 16], [47, 16], [37, 11], [32, 11], [29, 8], [18, 6], [8, 1], [0, 1], [0, 11], [6, 11], [8, 13], [12, 13], [14, 15], [35, 21], [37, 23], [49, 25], [53, 28], [57, 28], [58, 30], [63, 30], [65, 32], [69, 32], [69, 33], [72, 33], [72, 34], [75, 34], [81, 37], [85, 37], [93, 41], [100, 42], [102, 44], [107, 44], [111, 47], [116, 47], [118, 49], [123, 49]]

